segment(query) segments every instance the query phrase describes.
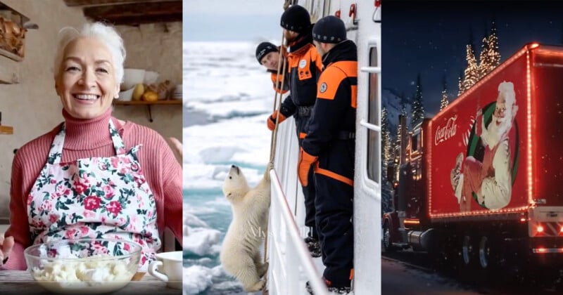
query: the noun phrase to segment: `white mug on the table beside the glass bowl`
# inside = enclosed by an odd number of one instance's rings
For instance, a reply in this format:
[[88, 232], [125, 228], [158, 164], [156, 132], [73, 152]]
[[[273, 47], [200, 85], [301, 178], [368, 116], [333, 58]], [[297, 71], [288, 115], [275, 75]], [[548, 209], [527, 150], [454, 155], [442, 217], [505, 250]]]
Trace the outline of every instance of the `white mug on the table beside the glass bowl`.
[[183, 253], [183, 251], [172, 251], [156, 254], [156, 261], [148, 265], [148, 273], [167, 282], [167, 286], [172, 289], [182, 289]]

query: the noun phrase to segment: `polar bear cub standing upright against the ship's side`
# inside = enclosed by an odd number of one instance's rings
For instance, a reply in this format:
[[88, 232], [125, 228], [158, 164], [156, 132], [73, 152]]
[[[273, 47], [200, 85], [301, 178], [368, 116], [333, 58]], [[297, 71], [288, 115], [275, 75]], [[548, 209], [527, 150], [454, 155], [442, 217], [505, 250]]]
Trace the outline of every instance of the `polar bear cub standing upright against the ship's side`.
[[270, 163], [262, 181], [251, 189], [241, 169], [232, 165], [223, 194], [232, 206], [233, 219], [225, 235], [220, 260], [223, 269], [243, 284], [245, 291], [260, 291], [268, 263], [262, 263], [260, 244], [267, 230], [270, 209]]

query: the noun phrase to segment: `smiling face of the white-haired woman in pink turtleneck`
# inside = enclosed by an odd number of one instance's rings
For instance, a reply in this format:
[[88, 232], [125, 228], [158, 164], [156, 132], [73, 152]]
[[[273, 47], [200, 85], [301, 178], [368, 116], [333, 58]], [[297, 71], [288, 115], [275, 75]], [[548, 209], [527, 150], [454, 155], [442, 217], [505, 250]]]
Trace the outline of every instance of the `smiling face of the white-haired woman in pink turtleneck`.
[[72, 117], [92, 119], [106, 112], [119, 93], [108, 48], [91, 37], [71, 41], [55, 77], [55, 89]]

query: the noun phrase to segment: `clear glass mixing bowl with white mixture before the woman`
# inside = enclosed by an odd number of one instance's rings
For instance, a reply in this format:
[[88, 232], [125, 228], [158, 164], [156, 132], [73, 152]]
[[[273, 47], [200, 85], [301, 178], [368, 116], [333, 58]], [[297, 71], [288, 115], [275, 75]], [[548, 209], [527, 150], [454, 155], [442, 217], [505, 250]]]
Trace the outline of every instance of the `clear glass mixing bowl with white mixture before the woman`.
[[24, 251], [27, 271], [45, 289], [58, 294], [103, 294], [131, 282], [141, 246], [115, 239], [58, 240]]

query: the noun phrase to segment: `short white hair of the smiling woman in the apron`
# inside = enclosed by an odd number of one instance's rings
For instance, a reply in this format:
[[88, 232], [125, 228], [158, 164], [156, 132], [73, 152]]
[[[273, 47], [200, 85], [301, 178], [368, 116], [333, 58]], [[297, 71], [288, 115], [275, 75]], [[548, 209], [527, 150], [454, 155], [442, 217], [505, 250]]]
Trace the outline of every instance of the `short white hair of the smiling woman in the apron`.
[[63, 27], [58, 32], [58, 48], [55, 54], [55, 63], [53, 72], [55, 77], [61, 72], [63, 63], [63, 55], [66, 46], [75, 39], [80, 37], [93, 37], [99, 39], [103, 43], [113, 58], [113, 70], [115, 72], [115, 81], [121, 84], [123, 81], [123, 63], [125, 62], [125, 46], [123, 39], [114, 27], [106, 25], [102, 22], [87, 23], [82, 27], [82, 31], [78, 32], [73, 27]]

